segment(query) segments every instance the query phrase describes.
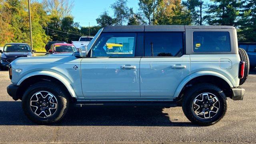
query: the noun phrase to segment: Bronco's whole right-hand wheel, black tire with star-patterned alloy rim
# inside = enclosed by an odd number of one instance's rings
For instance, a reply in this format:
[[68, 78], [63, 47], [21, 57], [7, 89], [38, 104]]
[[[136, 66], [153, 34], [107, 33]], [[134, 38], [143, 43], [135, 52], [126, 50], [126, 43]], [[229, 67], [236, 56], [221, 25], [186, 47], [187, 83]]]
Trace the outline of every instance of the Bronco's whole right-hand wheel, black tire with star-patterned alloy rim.
[[[213, 102], [203, 99], [203, 101], [200, 102], [201, 98], [208, 98]], [[196, 104], [199, 106], [199, 109]], [[205, 109], [205, 112], [200, 112], [203, 109]], [[182, 110], [188, 120], [192, 123], [202, 126], [210, 126], [218, 122], [226, 114], [226, 96], [220, 88], [213, 84], [197, 84], [185, 92], [182, 100]]]

